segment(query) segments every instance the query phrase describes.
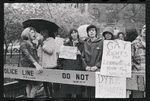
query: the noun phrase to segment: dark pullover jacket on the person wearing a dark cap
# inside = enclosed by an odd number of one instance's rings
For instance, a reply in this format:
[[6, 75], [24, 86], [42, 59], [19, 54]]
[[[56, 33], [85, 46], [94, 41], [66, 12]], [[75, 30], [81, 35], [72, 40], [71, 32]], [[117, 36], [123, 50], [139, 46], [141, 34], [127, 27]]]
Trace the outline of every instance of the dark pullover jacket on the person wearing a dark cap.
[[84, 70], [86, 66], [97, 66], [101, 67], [102, 60], [102, 52], [103, 52], [103, 39], [98, 37], [95, 41], [91, 41], [88, 39], [84, 43], [84, 50], [82, 53], [82, 60]]

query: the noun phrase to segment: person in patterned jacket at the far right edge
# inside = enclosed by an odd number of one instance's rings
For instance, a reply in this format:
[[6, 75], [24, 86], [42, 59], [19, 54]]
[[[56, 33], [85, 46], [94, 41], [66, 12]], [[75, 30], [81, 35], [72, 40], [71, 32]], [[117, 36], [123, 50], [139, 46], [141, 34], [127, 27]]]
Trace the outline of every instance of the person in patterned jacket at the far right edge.
[[[141, 34], [131, 43], [131, 51], [132, 51], [132, 71], [145, 71], [146, 25], [142, 27]], [[143, 97], [144, 97], [143, 91], [133, 90], [133, 98], [143, 98]]]

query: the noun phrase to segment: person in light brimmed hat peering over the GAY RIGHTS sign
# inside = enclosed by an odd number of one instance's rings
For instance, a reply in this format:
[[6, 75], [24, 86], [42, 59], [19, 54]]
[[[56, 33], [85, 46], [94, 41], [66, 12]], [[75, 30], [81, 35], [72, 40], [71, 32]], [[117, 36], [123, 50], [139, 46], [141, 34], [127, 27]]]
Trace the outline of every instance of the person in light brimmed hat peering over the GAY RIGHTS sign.
[[102, 35], [104, 40], [114, 40], [114, 30], [111, 27], [106, 27]]

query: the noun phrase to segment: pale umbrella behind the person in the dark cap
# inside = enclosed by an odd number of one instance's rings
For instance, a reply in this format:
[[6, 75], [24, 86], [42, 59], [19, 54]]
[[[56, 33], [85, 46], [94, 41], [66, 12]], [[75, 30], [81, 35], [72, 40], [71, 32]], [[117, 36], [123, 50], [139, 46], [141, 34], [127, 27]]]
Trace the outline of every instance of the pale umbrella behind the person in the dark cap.
[[89, 25], [82, 25], [80, 26], [77, 30], [79, 32], [79, 37], [82, 39], [82, 38], [87, 38], [87, 32], [86, 32], [86, 28], [88, 27]]

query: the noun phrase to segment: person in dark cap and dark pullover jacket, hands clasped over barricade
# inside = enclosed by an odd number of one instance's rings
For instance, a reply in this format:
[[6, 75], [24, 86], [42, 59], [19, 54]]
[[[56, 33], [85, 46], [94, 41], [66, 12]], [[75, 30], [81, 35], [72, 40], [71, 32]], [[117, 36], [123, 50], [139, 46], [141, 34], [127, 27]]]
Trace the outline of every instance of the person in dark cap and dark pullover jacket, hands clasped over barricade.
[[[89, 25], [86, 29], [88, 39], [82, 53], [83, 68], [86, 71], [100, 71], [103, 53], [103, 38], [97, 36], [97, 27]], [[86, 87], [87, 97], [95, 98], [95, 87]]]

